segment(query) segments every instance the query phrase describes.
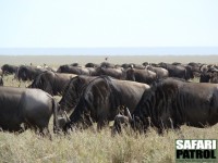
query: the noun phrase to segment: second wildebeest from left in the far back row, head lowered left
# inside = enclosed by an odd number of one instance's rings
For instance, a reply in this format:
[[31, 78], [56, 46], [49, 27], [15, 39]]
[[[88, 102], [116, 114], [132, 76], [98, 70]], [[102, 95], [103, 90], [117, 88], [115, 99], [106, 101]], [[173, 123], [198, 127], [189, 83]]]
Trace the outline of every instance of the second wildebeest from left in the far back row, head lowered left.
[[48, 71], [47, 68], [37, 68], [35, 66], [21, 65], [15, 74], [15, 78], [19, 80], [33, 80], [40, 73]]

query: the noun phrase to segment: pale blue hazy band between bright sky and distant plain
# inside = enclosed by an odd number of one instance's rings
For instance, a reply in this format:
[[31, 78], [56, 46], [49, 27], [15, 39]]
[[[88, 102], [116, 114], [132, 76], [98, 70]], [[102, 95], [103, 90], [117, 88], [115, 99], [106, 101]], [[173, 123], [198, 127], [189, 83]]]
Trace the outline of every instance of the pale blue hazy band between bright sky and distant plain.
[[216, 55], [218, 47], [0, 48], [1, 55]]

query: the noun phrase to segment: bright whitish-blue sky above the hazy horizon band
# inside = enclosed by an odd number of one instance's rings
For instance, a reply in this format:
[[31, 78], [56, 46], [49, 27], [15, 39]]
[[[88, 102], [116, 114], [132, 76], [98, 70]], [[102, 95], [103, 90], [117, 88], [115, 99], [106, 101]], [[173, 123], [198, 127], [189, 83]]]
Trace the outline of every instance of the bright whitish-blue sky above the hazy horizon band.
[[0, 49], [206, 47], [217, 0], [0, 0]]

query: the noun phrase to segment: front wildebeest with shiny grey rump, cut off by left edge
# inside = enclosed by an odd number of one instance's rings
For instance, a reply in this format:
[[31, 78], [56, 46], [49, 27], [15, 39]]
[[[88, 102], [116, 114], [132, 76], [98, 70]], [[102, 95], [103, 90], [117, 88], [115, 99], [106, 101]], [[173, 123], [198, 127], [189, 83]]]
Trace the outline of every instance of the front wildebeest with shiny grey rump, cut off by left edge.
[[8, 131], [33, 128], [49, 134], [48, 124], [56, 106], [55, 99], [40, 89], [0, 87], [0, 127]]

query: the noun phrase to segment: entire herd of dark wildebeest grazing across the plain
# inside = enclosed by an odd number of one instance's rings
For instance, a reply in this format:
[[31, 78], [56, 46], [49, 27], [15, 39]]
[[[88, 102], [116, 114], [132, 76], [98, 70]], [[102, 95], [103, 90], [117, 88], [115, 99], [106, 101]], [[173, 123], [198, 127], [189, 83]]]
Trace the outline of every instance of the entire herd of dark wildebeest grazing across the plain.
[[[14, 74], [20, 82], [31, 80], [26, 88], [5, 87], [2, 78]], [[199, 82], [192, 82], [194, 77]], [[114, 65], [77, 63], [57, 70], [33, 65], [1, 67], [0, 127], [20, 133], [27, 128], [53, 133], [97, 129], [109, 126], [122, 133], [125, 126], [146, 133], [155, 127], [179, 129], [186, 124], [205, 127], [218, 122], [218, 66], [202, 63], [143, 63]], [[58, 101], [53, 96], [61, 96]]]

